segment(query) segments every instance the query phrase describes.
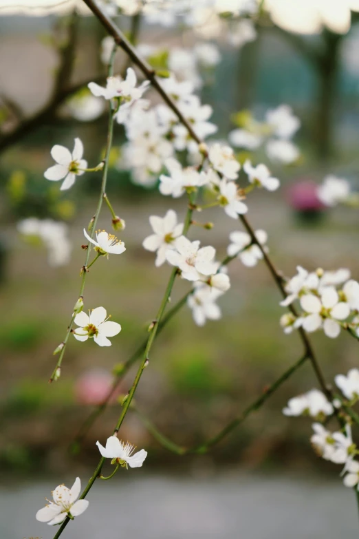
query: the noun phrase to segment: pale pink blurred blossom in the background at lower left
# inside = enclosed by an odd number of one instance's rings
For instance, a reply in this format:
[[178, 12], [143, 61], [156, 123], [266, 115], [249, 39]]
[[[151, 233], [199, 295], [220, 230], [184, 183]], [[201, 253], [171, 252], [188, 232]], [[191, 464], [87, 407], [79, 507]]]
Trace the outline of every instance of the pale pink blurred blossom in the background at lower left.
[[[113, 376], [107, 370], [92, 369], [80, 376], [74, 387], [75, 399], [79, 404], [101, 404], [107, 398], [113, 383]], [[120, 389], [111, 397], [110, 403], [116, 402]]]

